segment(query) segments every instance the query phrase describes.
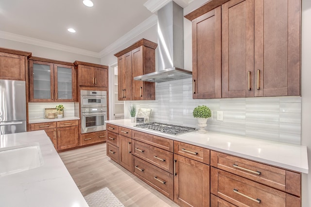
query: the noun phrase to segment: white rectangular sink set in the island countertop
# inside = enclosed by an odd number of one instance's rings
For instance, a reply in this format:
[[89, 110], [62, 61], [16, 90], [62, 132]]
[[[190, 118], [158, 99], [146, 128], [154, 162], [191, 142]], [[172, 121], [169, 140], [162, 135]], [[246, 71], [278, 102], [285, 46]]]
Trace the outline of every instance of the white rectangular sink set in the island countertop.
[[39, 143], [0, 148], [0, 176], [34, 169], [43, 164]]

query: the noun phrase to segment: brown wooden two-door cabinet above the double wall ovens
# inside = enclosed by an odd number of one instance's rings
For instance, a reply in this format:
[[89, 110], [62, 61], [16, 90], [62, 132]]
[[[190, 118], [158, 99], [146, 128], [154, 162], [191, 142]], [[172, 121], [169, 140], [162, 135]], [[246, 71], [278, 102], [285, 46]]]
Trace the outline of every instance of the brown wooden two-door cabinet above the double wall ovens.
[[79, 86], [108, 87], [108, 66], [75, 61]]

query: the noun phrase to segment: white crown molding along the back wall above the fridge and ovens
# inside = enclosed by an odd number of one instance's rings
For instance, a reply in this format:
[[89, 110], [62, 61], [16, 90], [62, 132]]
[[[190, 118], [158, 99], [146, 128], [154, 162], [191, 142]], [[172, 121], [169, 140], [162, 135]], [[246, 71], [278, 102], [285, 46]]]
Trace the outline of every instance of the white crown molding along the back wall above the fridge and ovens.
[[90, 57], [95, 57], [95, 58], [100, 58], [100, 54], [98, 52], [93, 52], [89, 51], [86, 49], [81, 49], [81, 48], [74, 48], [66, 45], [61, 45], [45, 40], [40, 40], [32, 37], [27, 37], [19, 34], [14, 34], [10, 32], [4, 32], [0, 31], [0, 38], [7, 39], [7, 40], [13, 40], [17, 42], [22, 42], [26, 44], [31, 44], [31, 45], [36, 45], [40, 47], [45, 47], [45, 48], [52, 48], [52, 49], [57, 49], [57, 50], [62, 50], [66, 52], [71, 52], [75, 54], [80, 54], [80, 55], [86, 55]]

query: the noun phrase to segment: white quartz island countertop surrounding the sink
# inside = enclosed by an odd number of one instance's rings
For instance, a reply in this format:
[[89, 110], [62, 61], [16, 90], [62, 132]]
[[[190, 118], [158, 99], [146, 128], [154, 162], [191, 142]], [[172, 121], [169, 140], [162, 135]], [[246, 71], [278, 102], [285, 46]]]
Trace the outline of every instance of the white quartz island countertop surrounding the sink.
[[0, 206], [88, 207], [44, 130], [0, 135], [0, 149], [28, 143], [39, 143], [44, 164], [0, 175]]

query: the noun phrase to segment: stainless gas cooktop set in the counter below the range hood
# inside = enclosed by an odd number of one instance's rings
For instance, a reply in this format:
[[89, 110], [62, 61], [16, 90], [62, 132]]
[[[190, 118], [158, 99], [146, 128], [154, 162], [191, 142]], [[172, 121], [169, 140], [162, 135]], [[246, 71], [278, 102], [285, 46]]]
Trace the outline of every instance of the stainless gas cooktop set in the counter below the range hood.
[[172, 124], [163, 124], [159, 122], [138, 124], [138, 125], [135, 125], [135, 127], [150, 129], [150, 130], [163, 132], [166, 134], [172, 134], [172, 135], [179, 135], [179, 134], [183, 134], [183, 133], [195, 130], [195, 128], [193, 127], [183, 127], [183, 126], [172, 125]]

